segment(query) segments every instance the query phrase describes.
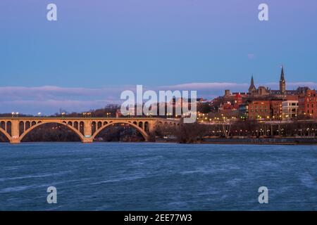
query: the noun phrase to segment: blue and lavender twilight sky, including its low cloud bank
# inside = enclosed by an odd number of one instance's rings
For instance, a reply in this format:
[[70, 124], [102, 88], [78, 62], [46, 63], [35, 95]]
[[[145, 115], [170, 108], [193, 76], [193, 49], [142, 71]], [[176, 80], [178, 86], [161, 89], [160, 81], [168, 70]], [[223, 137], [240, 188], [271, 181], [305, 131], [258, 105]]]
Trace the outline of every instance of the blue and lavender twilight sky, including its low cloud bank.
[[315, 88], [316, 42], [316, 0], [1, 0], [0, 113], [101, 108], [137, 84], [211, 99], [251, 74], [274, 89], [281, 65], [287, 89]]

